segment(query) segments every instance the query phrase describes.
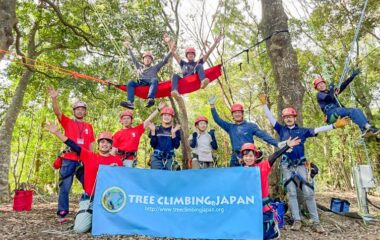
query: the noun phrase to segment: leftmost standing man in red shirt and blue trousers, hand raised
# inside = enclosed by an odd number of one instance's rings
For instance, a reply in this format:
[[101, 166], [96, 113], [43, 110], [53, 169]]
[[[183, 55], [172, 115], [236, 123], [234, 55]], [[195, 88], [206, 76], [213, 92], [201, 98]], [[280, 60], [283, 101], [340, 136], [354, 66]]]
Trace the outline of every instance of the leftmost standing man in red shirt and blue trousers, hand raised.
[[[84, 122], [83, 119], [87, 114], [87, 105], [84, 102], [76, 102], [73, 105], [74, 118], [69, 118], [63, 114], [58, 104], [58, 92], [53, 88], [48, 88], [49, 95], [53, 102], [53, 111], [63, 129], [65, 136], [72, 139], [83, 149], [92, 150], [92, 144], [95, 141], [94, 131], [90, 123]], [[61, 155], [62, 166], [59, 170], [59, 196], [58, 196], [58, 221], [67, 221], [66, 215], [69, 213], [69, 193], [73, 184], [74, 175], [84, 186], [83, 169], [78, 161], [77, 153], [67, 148]]]

